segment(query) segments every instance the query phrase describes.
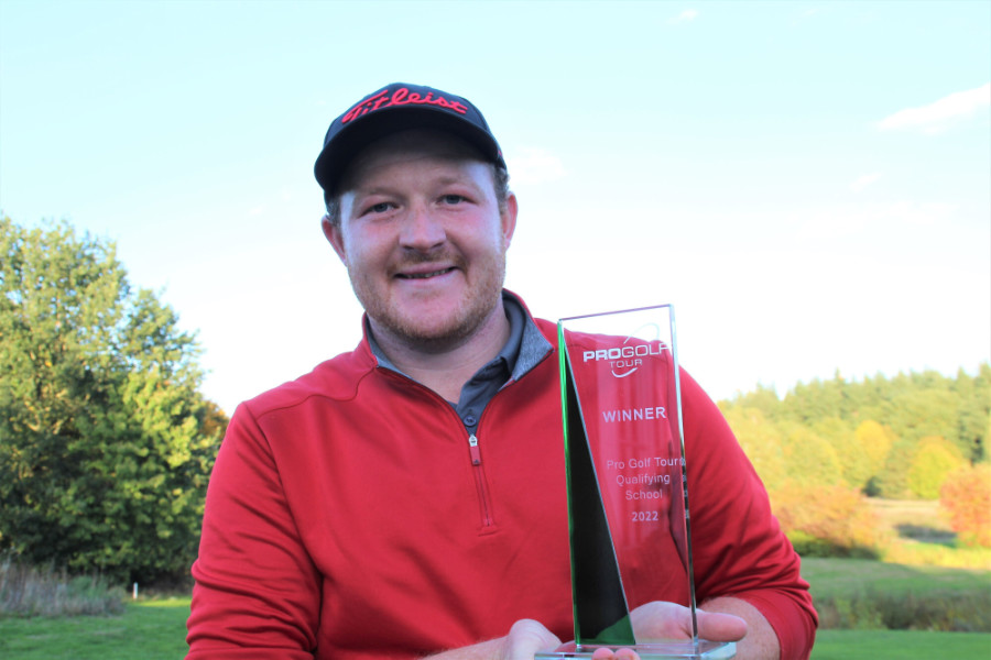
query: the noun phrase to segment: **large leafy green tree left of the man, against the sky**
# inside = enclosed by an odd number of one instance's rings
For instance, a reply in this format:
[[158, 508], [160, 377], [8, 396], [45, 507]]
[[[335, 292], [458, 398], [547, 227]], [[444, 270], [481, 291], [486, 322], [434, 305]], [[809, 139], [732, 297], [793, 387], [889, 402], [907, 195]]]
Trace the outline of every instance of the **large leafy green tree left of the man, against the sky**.
[[[115, 245], [0, 220], [0, 549], [113, 576], [183, 573], [226, 420], [192, 334]], [[206, 431], [206, 432], [204, 432]]]

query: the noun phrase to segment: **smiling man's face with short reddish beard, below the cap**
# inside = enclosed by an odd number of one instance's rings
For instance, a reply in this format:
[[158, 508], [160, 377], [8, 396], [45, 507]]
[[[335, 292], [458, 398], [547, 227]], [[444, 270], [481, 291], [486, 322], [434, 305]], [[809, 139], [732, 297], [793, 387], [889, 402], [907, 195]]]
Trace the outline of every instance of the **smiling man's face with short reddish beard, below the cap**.
[[340, 224], [324, 233], [348, 268], [378, 334], [444, 351], [494, 315], [516, 200], [500, 212], [492, 166], [438, 131], [406, 131], [348, 167]]

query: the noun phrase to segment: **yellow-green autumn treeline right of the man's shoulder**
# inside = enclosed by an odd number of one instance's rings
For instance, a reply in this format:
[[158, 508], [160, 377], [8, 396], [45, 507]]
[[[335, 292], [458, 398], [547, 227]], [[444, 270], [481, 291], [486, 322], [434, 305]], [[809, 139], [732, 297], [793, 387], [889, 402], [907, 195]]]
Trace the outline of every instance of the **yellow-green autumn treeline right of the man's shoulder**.
[[[949, 481], [980, 484], [984, 480], [974, 475], [988, 469], [988, 363], [973, 375], [960, 370], [955, 377], [934, 371], [863, 381], [837, 375], [796, 385], [784, 398], [759, 386], [719, 406], [764, 481], [783, 527], [799, 539], [870, 547], [863, 496], [946, 498], [954, 491], [945, 487]], [[979, 510], [982, 504], [967, 506]]]

